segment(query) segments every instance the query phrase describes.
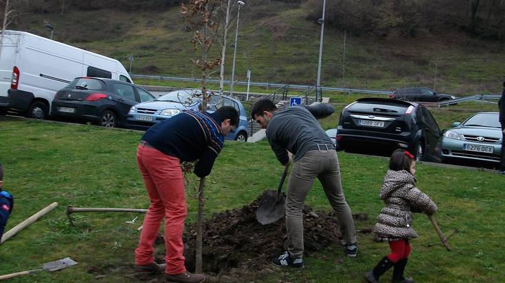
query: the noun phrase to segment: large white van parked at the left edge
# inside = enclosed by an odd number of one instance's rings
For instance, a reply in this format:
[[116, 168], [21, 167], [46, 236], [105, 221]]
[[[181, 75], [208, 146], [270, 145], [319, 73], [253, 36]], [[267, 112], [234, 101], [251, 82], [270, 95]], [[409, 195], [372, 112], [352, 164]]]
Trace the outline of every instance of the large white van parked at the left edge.
[[132, 82], [115, 59], [27, 32], [6, 30], [3, 34], [0, 112], [6, 108], [25, 112], [30, 118], [45, 119], [51, 113], [56, 92], [75, 77]]

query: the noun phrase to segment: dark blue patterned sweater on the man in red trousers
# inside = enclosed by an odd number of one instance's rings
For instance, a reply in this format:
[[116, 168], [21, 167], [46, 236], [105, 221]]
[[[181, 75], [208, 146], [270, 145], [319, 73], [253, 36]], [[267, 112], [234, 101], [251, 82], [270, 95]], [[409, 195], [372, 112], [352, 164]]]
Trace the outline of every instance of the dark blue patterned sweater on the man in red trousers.
[[204, 177], [210, 174], [223, 149], [225, 136], [221, 131], [221, 119], [215, 112], [184, 111], [150, 127], [142, 140], [181, 161], [199, 160], [194, 173]]

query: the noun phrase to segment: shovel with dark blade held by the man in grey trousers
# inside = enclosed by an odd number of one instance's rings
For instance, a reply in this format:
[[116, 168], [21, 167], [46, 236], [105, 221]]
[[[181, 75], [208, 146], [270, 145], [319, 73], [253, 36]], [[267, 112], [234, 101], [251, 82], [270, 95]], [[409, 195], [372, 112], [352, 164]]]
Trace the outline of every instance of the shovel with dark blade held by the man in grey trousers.
[[256, 210], [256, 219], [262, 225], [276, 222], [286, 213], [286, 197], [282, 194], [282, 185], [286, 180], [288, 169], [289, 165], [284, 168], [277, 191], [266, 190], [260, 199], [258, 210]]

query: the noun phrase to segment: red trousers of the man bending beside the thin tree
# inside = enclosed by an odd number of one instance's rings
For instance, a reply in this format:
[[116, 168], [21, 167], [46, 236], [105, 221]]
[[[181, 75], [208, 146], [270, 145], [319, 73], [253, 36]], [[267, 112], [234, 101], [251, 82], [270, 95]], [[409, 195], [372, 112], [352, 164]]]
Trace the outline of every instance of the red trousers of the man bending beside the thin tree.
[[186, 220], [186, 195], [179, 159], [139, 145], [137, 164], [144, 178], [150, 205], [144, 218], [135, 264], [154, 262], [154, 243], [161, 219], [165, 218], [166, 273], [180, 274], [184, 267], [182, 234]]

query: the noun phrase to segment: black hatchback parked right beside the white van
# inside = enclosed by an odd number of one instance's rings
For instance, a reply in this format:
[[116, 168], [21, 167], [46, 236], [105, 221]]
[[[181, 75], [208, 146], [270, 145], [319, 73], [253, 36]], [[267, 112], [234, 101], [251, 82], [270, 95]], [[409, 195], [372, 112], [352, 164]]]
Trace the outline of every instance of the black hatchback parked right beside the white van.
[[69, 119], [89, 121], [104, 127], [126, 125], [131, 106], [155, 99], [147, 90], [134, 84], [77, 77], [54, 95], [51, 114]]

